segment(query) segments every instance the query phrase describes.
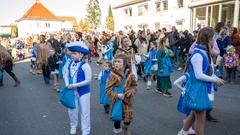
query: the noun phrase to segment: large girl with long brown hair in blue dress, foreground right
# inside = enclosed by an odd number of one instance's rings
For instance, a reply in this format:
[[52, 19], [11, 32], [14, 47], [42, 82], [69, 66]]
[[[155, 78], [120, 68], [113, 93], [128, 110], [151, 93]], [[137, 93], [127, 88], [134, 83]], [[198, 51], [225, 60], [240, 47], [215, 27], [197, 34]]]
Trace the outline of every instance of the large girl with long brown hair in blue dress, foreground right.
[[[184, 106], [191, 110], [186, 118], [183, 128], [178, 135], [187, 135], [187, 131], [196, 121], [196, 134], [204, 134], [206, 110], [211, 109], [212, 105], [208, 97], [208, 83], [223, 85], [224, 81], [218, 77], [211, 76], [211, 47], [214, 30], [209, 27], [199, 31], [197, 45], [189, 58], [187, 72], [189, 80], [186, 83], [184, 95]], [[196, 97], [197, 96], [197, 97]]]

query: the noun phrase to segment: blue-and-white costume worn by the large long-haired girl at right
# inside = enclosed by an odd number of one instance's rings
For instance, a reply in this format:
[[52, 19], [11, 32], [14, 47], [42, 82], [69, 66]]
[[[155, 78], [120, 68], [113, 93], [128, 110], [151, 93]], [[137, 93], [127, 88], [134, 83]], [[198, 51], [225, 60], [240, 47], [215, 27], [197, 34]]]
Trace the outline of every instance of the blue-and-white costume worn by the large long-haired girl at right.
[[[196, 104], [199, 105], [191, 106], [194, 108], [189, 109], [197, 111], [211, 109], [212, 105], [209, 101], [209, 97], [207, 94], [212, 87], [212, 83], [217, 81], [217, 77], [207, 75], [211, 65], [208, 63], [208, 57], [205, 48], [200, 45], [197, 45], [195, 47], [195, 50], [190, 58], [188, 67], [189, 68], [187, 72], [190, 75], [190, 79], [186, 83], [186, 94], [192, 94], [191, 96], [193, 99], [198, 98], [196, 100]], [[193, 97], [193, 94], [196, 94], [196, 92], [199, 91], [201, 91], [202, 97]]]

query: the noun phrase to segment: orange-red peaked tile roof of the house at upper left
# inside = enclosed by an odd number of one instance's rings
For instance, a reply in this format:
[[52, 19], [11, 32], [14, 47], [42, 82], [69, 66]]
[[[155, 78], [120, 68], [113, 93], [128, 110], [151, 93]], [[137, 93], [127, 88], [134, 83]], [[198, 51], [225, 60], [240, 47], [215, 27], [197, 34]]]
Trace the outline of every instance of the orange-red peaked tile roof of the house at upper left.
[[21, 20], [59, 20], [59, 18], [36, 0], [33, 6], [17, 21]]

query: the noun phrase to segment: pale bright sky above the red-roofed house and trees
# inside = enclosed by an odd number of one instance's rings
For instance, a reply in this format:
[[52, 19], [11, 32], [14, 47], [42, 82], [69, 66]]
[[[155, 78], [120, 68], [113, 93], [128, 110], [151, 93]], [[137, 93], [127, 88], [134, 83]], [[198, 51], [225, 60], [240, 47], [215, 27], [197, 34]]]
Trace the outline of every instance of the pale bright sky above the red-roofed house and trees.
[[[0, 25], [11, 24], [21, 18], [36, 0], [0, 0]], [[56, 16], [75, 16], [77, 20], [86, 15], [89, 0], [39, 0]], [[127, 0], [99, 0], [102, 10], [102, 21], [105, 20], [108, 6], [118, 5]]]

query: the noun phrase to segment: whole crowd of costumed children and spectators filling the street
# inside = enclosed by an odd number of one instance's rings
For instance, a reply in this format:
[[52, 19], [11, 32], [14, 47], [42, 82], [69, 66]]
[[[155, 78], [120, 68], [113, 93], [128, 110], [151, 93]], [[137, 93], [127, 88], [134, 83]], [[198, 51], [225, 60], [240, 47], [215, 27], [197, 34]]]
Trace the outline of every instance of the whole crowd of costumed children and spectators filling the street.
[[[70, 134], [77, 132], [79, 113], [82, 135], [90, 134], [90, 83], [94, 75], [89, 63], [93, 57], [98, 58], [96, 64], [101, 68], [94, 76], [100, 81], [99, 102], [113, 121], [114, 134], [130, 134], [139, 81], [146, 83], [146, 90], [165, 97], [173, 96], [170, 90], [174, 84], [181, 92], [177, 109], [186, 115], [183, 128], [176, 134], [203, 135], [205, 119], [217, 121], [210, 114], [214, 92], [224, 80], [232, 84], [239, 79], [240, 35], [237, 28], [223, 22], [193, 33], [178, 32], [173, 26], [170, 32], [166, 28], [136, 33], [58, 32], [30, 39], [30, 72], [41, 74], [44, 83], [53, 84], [59, 93], [60, 102], [68, 109]], [[14, 79], [14, 86], [20, 85], [13, 66], [13, 57], [1, 45], [0, 86], [4, 71]], [[179, 71], [182, 76], [172, 82], [172, 73]]]

